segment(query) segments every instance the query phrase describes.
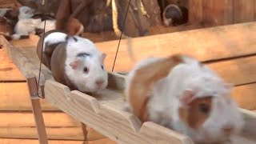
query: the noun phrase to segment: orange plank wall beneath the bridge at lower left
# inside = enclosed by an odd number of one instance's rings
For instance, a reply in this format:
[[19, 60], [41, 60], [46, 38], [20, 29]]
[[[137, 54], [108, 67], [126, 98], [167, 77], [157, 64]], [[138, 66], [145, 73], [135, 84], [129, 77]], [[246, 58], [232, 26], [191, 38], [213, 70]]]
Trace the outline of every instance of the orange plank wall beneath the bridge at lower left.
[[[26, 40], [24, 43], [27, 43]], [[13, 43], [18, 44], [18, 43]], [[34, 116], [31, 111], [26, 78], [8, 57], [6, 49], [0, 49], [0, 142], [38, 143]], [[50, 143], [89, 143], [110, 144], [110, 141], [97, 131], [82, 127], [82, 123], [57, 108], [41, 100], [46, 132]]]

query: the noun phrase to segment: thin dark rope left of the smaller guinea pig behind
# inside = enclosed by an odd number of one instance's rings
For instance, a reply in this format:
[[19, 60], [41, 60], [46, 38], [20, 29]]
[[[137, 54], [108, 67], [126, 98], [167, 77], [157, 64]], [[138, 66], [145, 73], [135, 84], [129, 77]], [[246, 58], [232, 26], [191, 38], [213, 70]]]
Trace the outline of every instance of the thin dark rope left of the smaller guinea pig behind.
[[[48, 0], [43, 0], [42, 3], [46, 4], [46, 12], [44, 13], [44, 16], [46, 17], [46, 14], [48, 14]], [[45, 41], [45, 34], [46, 34], [46, 20], [44, 22], [44, 27], [43, 27], [43, 32], [42, 32], [42, 50], [43, 50], [43, 43]], [[38, 76], [38, 92], [39, 92], [39, 88], [40, 88], [39, 86], [40, 86], [41, 71], [42, 71], [42, 51], [41, 51], [41, 59], [40, 59], [40, 66], [39, 66], [39, 76]], [[40, 97], [39, 93], [38, 93], [38, 95]]]

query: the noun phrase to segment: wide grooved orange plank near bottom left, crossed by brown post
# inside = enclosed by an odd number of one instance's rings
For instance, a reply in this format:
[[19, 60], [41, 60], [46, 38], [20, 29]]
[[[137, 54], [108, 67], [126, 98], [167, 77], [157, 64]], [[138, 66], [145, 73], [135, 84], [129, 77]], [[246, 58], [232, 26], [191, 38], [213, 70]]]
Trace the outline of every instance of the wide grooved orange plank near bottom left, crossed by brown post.
[[[68, 114], [43, 113], [49, 139], [85, 140], [81, 122]], [[0, 138], [38, 138], [32, 113], [1, 113]], [[92, 128], [86, 128], [87, 140], [106, 138]]]

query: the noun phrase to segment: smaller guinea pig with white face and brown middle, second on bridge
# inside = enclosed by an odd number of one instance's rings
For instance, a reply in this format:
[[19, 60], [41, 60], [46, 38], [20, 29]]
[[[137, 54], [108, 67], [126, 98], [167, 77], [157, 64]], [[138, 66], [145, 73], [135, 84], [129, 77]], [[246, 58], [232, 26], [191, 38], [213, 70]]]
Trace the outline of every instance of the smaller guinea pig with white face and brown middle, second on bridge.
[[70, 90], [94, 93], [105, 89], [108, 74], [105, 70], [106, 54], [97, 49], [89, 39], [52, 32], [38, 42], [38, 57], [52, 72], [54, 79]]

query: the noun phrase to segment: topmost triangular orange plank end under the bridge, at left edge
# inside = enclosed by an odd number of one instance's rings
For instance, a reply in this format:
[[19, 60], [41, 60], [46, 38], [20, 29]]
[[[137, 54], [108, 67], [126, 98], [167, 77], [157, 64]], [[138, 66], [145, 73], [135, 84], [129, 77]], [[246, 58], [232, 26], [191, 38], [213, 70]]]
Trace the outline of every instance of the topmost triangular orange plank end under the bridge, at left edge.
[[0, 82], [26, 81], [17, 66], [9, 58], [6, 49], [0, 49]]

